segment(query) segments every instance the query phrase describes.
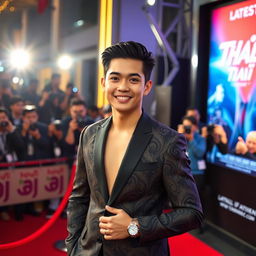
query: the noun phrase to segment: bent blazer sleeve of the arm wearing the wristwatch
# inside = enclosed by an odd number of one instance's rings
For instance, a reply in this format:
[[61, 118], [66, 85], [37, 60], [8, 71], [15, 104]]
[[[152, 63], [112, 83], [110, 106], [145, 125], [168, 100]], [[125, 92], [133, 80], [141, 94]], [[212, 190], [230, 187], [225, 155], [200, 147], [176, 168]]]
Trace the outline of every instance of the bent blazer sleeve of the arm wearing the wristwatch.
[[176, 134], [167, 147], [163, 165], [163, 185], [172, 210], [138, 217], [140, 243], [182, 234], [201, 225], [202, 207], [189, 163], [185, 138]]

